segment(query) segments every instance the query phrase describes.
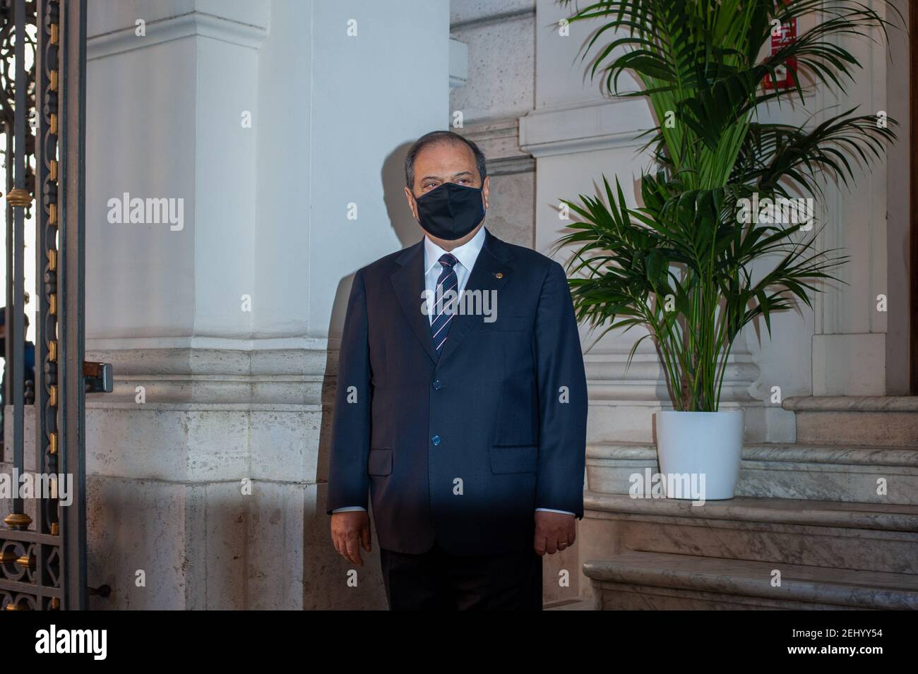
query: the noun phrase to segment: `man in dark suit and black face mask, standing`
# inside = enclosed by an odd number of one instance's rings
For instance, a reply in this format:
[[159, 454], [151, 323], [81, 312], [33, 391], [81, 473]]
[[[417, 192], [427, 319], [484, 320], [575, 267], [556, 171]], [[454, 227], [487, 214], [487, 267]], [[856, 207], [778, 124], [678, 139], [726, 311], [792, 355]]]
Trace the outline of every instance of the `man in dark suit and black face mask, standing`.
[[583, 518], [587, 381], [564, 269], [485, 227], [485, 158], [450, 131], [405, 161], [425, 236], [358, 270], [341, 337], [331, 538], [390, 609], [541, 609]]

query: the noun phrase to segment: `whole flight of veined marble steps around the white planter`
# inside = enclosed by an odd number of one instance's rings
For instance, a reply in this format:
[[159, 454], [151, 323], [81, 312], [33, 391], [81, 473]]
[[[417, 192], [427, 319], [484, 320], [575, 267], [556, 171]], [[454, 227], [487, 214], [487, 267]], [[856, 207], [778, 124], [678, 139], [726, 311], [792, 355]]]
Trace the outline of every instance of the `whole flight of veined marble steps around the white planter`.
[[584, 594], [597, 609], [918, 608], [916, 403], [789, 399], [798, 442], [744, 447], [729, 501], [633, 498], [655, 446], [588, 447]]

